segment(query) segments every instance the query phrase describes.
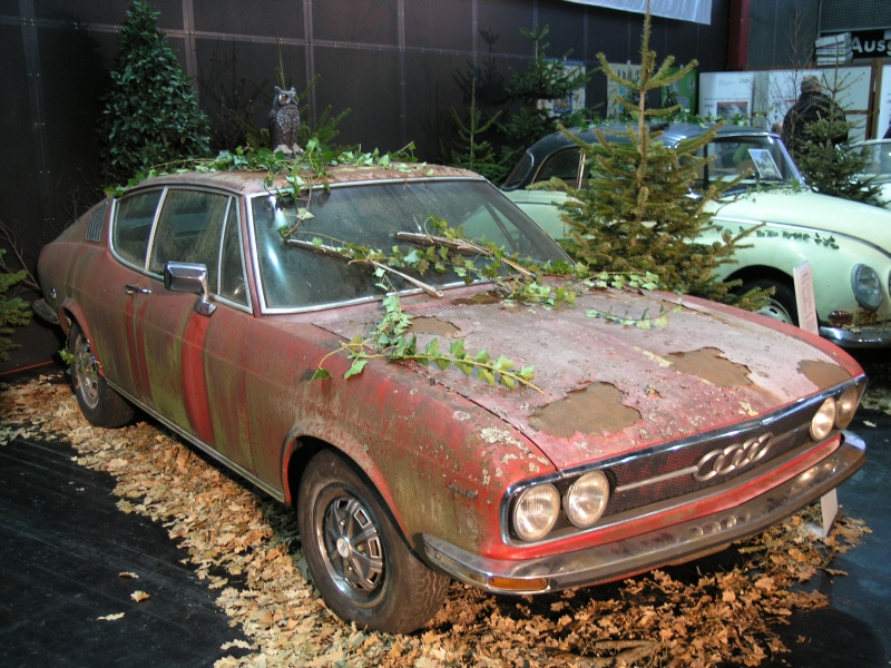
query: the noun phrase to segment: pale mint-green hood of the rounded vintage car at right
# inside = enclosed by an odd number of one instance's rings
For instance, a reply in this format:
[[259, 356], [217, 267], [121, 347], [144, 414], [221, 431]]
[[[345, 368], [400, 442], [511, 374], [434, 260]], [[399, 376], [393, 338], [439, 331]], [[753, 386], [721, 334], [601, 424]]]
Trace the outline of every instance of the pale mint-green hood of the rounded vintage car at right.
[[846, 235], [891, 252], [891, 212], [806, 190], [750, 193], [717, 206], [715, 219], [780, 223]]

